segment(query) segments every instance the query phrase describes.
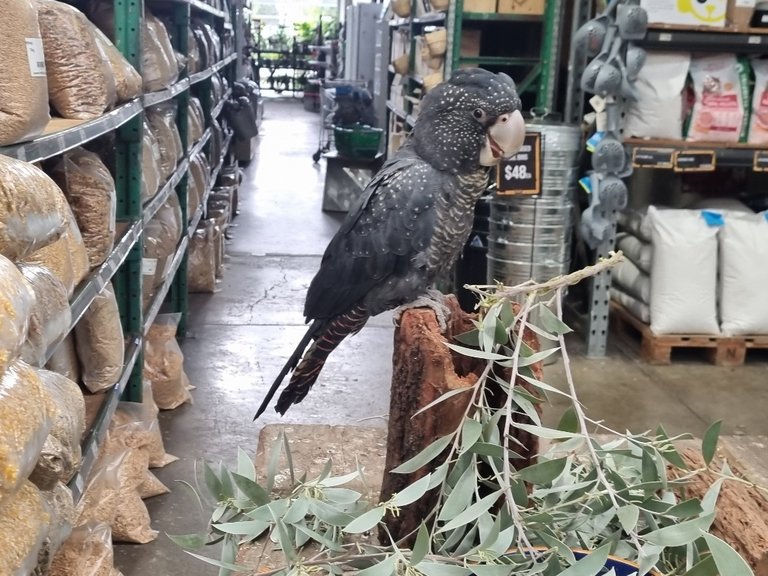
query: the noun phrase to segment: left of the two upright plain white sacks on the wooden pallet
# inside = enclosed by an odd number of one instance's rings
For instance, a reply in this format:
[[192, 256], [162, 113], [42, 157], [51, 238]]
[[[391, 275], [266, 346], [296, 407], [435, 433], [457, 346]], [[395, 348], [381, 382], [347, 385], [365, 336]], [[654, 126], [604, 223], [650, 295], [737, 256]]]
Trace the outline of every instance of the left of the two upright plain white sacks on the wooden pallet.
[[653, 233], [651, 330], [717, 334], [717, 232], [704, 213], [648, 208]]

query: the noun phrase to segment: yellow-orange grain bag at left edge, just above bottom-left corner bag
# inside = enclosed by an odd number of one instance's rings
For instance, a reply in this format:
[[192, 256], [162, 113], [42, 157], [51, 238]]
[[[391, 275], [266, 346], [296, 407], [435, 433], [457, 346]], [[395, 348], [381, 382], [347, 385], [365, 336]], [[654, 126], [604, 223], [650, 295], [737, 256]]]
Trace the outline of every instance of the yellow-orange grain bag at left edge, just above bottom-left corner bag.
[[0, 501], [34, 470], [54, 421], [54, 406], [37, 371], [16, 360], [0, 378]]

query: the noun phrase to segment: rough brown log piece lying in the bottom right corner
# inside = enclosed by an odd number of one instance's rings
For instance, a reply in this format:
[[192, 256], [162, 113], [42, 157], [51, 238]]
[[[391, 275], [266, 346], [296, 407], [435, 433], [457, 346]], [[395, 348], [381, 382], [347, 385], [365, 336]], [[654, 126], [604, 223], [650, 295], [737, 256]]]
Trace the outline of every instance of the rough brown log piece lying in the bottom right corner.
[[[683, 448], [683, 460], [692, 470], [704, 467], [704, 460], [698, 450]], [[738, 463], [727, 455], [734, 473], [742, 476]], [[722, 460], [712, 463], [720, 467]], [[687, 497], [703, 498], [714, 483], [714, 474], [705, 472], [692, 479], [686, 486]], [[768, 576], [768, 501], [757, 489], [737, 481], [726, 480], [717, 500], [717, 515], [710, 530], [712, 534], [728, 542], [741, 554], [755, 573]]]

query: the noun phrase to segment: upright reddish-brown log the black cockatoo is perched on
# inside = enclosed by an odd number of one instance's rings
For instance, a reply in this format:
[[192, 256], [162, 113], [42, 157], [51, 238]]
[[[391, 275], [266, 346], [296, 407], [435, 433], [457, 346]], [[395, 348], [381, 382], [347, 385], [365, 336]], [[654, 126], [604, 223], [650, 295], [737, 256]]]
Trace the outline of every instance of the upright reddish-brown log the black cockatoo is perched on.
[[[434, 469], [437, 465], [435, 462], [443, 461], [438, 457], [438, 460], [413, 474], [388, 472], [418, 454], [440, 436], [458, 428], [470, 401], [471, 392], [454, 396], [415, 418], [413, 415], [446, 392], [474, 386], [485, 368], [485, 361], [456, 354], [446, 346], [446, 343], [453, 341], [454, 336], [472, 330], [472, 320], [476, 318], [475, 315], [464, 312], [455, 297], [448, 296], [446, 302], [451, 309], [451, 318], [445, 334], [441, 333], [435, 313], [429, 308], [406, 310], [395, 330], [382, 502]], [[526, 333], [524, 340], [534, 350], [538, 349], [538, 340], [532, 332]], [[541, 379], [541, 365], [532, 368], [535, 377]], [[498, 369], [497, 374], [503, 374], [503, 371]], [[507, 378], [510, 376], [507, 370]], [[518, 379], [517, 385], [535, 394], [521, 379]], [[498, 393], [494, 394], [494, 401], [498, 403], [497, 407], [505, 403], [505, 394], [500, 388]], [[521, 417], [520, 421], [530, 423], [527, 417]], [[525, 456], [524, 461], [513, 462], [513, 466], [520, 468], [535, 460], [538, 443], [534, 436], [513, 430], [517, 440], [525, 447], [510, 446], [510, 449]], [[421, 500], [400, 510], [399, 515], [388, 514], [385, 522], [392, 537], [400, 540], [410, 534], [411, 538], [406, 542], [411, 544], [415, 530], [434, 508], [436, 497], [436, 490], [432, 490]], [[389, 544], [385, 535], [382, 535], [381, 541], [382, 544]]]

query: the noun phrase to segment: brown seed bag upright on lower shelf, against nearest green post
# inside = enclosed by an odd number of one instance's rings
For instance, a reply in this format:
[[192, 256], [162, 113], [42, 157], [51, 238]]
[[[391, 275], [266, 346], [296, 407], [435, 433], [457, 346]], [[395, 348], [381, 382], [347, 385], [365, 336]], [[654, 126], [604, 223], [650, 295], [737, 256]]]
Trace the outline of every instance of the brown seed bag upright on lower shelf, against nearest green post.
[[91, 392], [111, 388], [123, 372], [125, 340], [111, 284], [93, 299], [75, 326], [83, 385]]

